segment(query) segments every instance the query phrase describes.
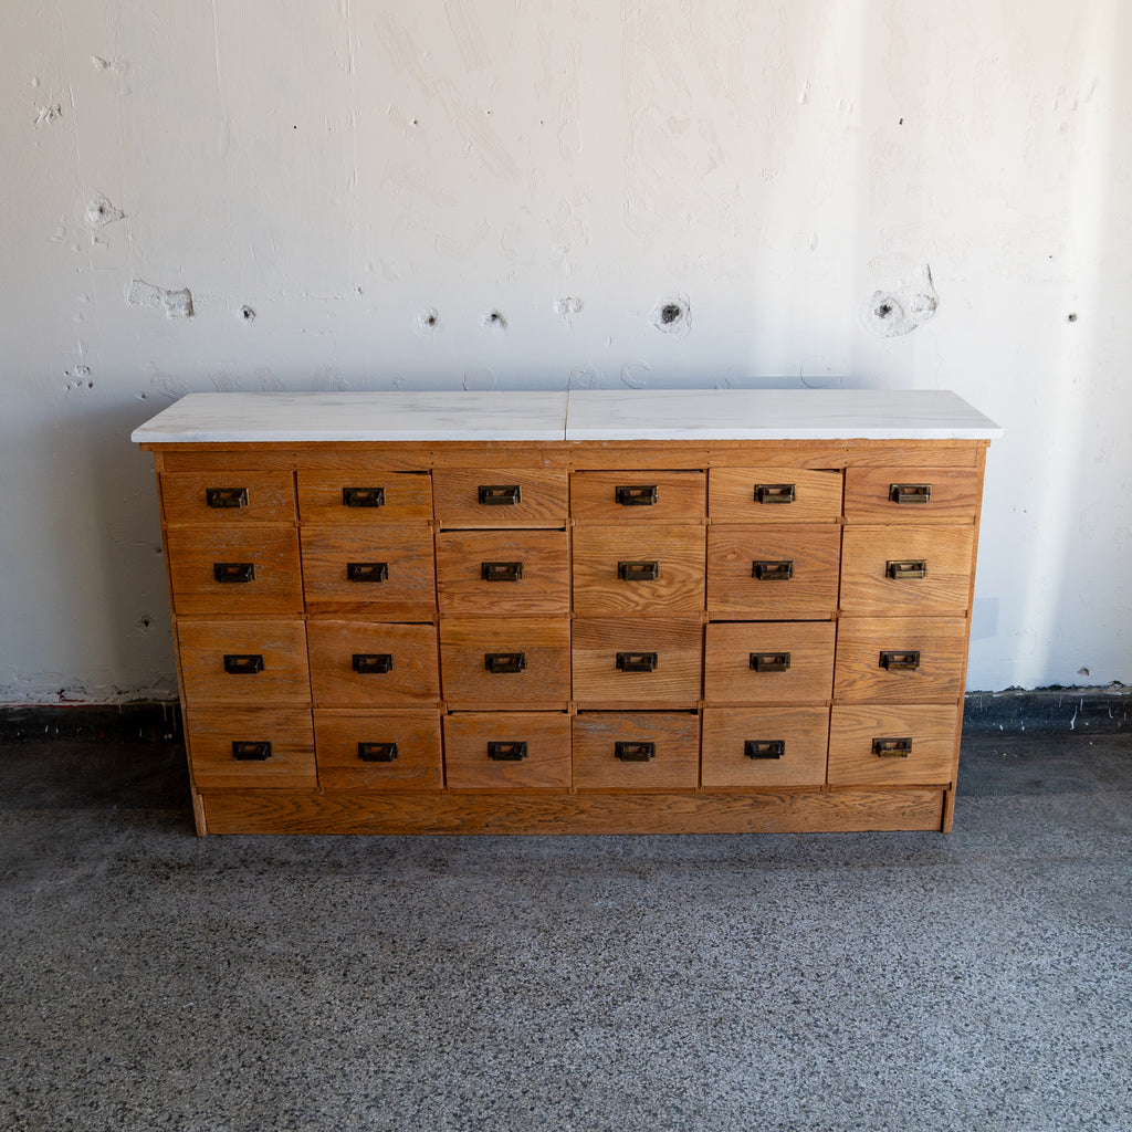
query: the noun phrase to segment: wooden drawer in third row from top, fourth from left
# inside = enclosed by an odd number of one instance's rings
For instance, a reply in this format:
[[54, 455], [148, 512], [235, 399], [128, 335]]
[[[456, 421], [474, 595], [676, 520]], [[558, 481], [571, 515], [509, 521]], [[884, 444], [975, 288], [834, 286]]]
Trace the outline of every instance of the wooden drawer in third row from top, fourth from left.
[[676, 618], [574, 621], [574, 698], [591, 706], [695, 706], [703, 626]]

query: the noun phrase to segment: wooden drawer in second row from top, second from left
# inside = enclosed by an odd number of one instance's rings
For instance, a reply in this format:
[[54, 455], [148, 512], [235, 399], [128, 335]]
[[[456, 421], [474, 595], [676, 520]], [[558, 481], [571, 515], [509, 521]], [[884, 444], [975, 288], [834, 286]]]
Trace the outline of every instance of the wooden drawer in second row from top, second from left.
[[436, 614], [432, 532], [388, 526], [360, 534], [302, 529], [302, 584], [314, 614], [358, 612], [389, 620]]

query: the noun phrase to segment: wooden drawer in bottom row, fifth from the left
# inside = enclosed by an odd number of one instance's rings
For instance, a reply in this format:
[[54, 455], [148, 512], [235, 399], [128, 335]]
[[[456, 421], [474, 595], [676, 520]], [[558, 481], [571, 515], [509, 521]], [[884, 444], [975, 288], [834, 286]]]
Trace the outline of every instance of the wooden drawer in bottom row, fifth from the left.
[[709, 707], [703, 731], [701, 773], [706, 788], [825, 783], [827, 707]]

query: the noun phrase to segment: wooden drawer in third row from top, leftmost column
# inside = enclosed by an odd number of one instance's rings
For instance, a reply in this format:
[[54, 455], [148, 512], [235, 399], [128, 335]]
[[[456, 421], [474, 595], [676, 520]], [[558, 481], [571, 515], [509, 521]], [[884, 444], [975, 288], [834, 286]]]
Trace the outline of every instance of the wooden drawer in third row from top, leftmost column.
[[307, 627], [291, 621], [177, 623], [189, 704], [310, 703]]

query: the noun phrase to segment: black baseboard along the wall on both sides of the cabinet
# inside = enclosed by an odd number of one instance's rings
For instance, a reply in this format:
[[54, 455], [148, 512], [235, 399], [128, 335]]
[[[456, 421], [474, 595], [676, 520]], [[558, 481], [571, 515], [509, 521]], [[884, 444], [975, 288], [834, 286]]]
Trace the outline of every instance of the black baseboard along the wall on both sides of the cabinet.
[[[1129, 731], [1132, 689], [1039, 688], [1032, 692], [969, 692], [963, 729], [970, 734]], [[0, 704], [0, 743], [80, 739], [95, 743], [169, 743], [181, 738], [175, 700], [127, 704]]]

